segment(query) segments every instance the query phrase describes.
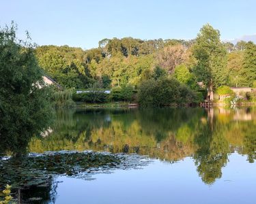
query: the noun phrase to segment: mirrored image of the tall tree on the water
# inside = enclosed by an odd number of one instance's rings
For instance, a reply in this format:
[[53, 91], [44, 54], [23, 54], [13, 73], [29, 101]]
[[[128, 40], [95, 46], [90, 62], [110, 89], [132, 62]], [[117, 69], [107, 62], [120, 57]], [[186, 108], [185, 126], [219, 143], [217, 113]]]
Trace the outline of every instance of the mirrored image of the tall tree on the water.
[[221, 178], [221, 169], [227, 164], [227, 154], [230, 152], [229, 143], [223, 137], [227, 126], [214, 119], [216, 118], [211, 117], [208, 123], [199, 124], [200, 128], [195, 136], [197, 151], [194, 158], [197, 171], [206, 184], [212, 184], [217, 178]]

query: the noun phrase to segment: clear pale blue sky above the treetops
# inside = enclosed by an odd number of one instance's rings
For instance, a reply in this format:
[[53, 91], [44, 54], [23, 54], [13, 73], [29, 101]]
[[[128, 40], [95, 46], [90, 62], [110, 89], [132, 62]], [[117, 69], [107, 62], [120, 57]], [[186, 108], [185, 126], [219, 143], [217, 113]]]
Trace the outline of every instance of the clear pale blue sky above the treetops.
[[39, 45], [92, 48], [112, 37], [192, 39], [207, 22], [222, 39], [256, 33], [255, 0], [0, 0], [0, 25]]

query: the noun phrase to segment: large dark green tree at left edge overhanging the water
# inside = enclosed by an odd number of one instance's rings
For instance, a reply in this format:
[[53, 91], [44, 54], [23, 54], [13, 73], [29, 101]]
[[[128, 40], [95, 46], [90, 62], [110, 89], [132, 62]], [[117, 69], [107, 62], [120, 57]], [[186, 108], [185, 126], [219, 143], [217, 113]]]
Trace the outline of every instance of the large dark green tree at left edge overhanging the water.
[[52, 118], [33, 49], [16, 39], [14, 24], [0, 30], [0, 138], [5, 151], [16, 155], [25, 153], [29, 139], [47, 129]]

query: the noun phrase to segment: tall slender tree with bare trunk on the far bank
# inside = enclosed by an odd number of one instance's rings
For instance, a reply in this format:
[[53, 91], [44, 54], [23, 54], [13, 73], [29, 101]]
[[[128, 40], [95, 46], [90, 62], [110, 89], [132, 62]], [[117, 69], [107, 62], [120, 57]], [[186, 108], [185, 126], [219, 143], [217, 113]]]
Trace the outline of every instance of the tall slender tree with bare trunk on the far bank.
[[197, 80], [208, 86], [210, 99], [213, 99], [213, 88], [227, 83], [227, 50], [220, 37], [220, 31], [205, 24], [198, 33], [193, 48], [197, 59], [193, 71]]

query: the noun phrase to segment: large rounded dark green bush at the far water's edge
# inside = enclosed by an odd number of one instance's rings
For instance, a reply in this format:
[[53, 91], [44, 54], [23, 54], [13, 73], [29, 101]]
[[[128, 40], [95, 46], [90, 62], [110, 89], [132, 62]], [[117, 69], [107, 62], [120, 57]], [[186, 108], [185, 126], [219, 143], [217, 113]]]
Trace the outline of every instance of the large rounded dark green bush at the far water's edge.
[[160, 107], [195, 103], [197, 96], [173, 78], [160, 78], [143, 82], [139, 86], [138, 100], [141, 106]]

